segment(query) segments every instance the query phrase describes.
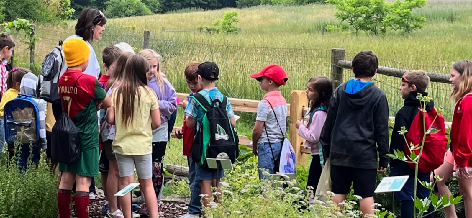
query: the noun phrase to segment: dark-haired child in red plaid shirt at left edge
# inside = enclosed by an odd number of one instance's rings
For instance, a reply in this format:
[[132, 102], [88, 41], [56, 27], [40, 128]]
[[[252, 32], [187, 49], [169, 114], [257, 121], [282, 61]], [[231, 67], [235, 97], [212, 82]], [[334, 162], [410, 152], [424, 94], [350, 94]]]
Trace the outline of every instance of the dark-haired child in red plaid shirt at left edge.
[[[15, 48], [15, 40], [8, 33], [0, 34], [0, 98], [7, 92], [8, 71], [11, 65], [8, 59]], [[3, 115], [2, 115], [3, 116]], [[5, 146], [5, 127], [3, 119], [0, 120], [0, 152], [3, 152]]]

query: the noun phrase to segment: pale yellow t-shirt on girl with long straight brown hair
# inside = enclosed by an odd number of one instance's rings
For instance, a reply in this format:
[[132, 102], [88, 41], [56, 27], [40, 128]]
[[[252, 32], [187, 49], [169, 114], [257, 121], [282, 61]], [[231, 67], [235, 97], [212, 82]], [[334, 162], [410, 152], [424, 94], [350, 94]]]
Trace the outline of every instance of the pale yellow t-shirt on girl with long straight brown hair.
[[[115, 140], [112, 148], [115, 153], [121, 155], [145, 155], [152, 153], [152, 128], [151, 110], [159, 109], [159, 101], [156, 92], [148, 86], [140, 86], [135, 94], [134, 117], [128, 124], [123, 122], [121, 101], [116, 105], [118, 89], [111, 94], [111, 106], [115, 108]], [[139, 107], [138, 107], [139, 103]]]

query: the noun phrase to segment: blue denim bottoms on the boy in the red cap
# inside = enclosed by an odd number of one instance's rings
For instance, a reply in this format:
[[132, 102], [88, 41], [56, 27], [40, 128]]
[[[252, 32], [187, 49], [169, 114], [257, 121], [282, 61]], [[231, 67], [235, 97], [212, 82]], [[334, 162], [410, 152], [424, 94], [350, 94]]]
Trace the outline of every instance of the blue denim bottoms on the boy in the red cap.
[[[270, 146], [272, 146], [272, 150], [270, 150]], [[269, 180], [269, 176], [262, 174], [263, 171], [267, 171], [269, 174], [274, 174], [275, 161], [280, 158], [281, 148], [282, 142], [270, 143], [270, 145], [269, 143], [261, 143], [261, 145], [259, 145], [259, 148], [257, 148], [259, 179]], [[273, 156], [272, 151], [274, 152]]]

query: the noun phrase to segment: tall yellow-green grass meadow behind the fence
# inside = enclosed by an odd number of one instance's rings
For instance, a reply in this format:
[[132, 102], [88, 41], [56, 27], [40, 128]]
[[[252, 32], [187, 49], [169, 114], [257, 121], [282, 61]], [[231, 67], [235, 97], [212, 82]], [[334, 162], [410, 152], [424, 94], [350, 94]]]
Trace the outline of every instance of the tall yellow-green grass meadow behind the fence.
[[[143, 31], [151, 33], [150, 47], [160, 53], [162, 69], [175, 86], [177, 92], [188, 92], [183, 76], [185, 65], [191, 61], [215, 61], [220, 67], [218, 87], [230, 97], [259, 100], [263, 92], [259, 84], [249, 77], [267, 64], [277, 63], [284, 67], [289, 81], [282, 87], [282, 93], [289, 99], [291, 90], [303, 90], [306, 81], [316, 75], [329, 76], [331, 49], [346, 49], [350, 60], [361, 50], [372, 50], [379, 56], [382, 66], [423, 69], [429, 72], [449, 73], [452, 62], [470, 59], [470, 33], [472, 31], [472, 2], [429, 2], [414, 13], [423, 15], [427, 23], [422, 30], [409, 35], [389, 31], [386, 35], [360, 33], [359, 37], [348, 32], [321, 34], [326, 25], [339, 25], [331, 5], [307, 5], [297, 7], [258, 6], [253, 8], [224, 8], [202, 11], [187, 9], [163, 15], [109, 19], [101, 41], [92, 45], [100, 56], [101, 50], [118, 42], [128, 42], [135, 51], [143, 48]], [[196, 30], [211, 23], [225, 12], [239, 12], [242, 34], [182, 33], [169, 30]], [[75, 21], [61, 25], [38, 24], [36, 35], [42, 40], [35, 46], [35, 61], [39, 66], [43, 57], [54, 48], [59, 40], [74, 33]], [[166, 32], [161, 29], [165, 27]], [[16, 63], [26, 65], [29, 51], [17, 34], [15, 48]], [[27, 65], [26, 65], [27, 66]], [[344, 71], [344, 80], [353, 76]], [[396, 77], [376, 75], [375, 83], [388, 97], [390, 115], [403, 105]], [[452, 118], [453, 102], [450, 100], [449, 84], [431, 83], [429, 92], [437, 105], [444, 110], [446, 120]], [[181, 124], [182, 109], [179, 120]], [[238, 132], [250, 136], [253, 114], [242, 114]], [[176, 158], [181, 157], [180, 141], [173, 140], [169, 149], [176, 149]], [[172, 152], [174, 153], [174, 152]], [[169, 157], [168, 160], [176, 160]], [[182, 161], [180, 161], [182, 160]], [[183, 158], [176, 163], [186, 165]]]

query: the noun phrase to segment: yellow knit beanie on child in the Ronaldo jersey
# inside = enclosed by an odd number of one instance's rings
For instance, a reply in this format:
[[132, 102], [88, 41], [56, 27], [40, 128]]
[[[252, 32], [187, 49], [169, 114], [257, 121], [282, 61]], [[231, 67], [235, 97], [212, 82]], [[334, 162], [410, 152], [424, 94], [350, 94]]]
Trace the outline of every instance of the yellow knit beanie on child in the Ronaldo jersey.
[[62, 44], [67, 67], [75, 67], [85, 63], [90, 56], [90, 48], [83, 39], [72, 38]]

